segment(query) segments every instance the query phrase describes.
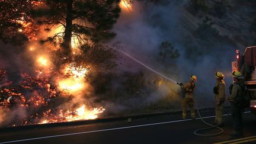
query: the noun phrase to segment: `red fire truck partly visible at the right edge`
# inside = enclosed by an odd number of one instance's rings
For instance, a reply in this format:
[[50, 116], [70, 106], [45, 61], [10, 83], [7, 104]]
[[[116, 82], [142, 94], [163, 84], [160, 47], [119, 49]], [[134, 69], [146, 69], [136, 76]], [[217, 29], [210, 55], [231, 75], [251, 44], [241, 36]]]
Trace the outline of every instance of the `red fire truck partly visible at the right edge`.
[[236, 60], [232, 62], [232, 72], [244, 74], [245, 92], [251, 100], [249, 108], [256, 114], [256, 46], [247, 47], [244, 53], [236, 50]]

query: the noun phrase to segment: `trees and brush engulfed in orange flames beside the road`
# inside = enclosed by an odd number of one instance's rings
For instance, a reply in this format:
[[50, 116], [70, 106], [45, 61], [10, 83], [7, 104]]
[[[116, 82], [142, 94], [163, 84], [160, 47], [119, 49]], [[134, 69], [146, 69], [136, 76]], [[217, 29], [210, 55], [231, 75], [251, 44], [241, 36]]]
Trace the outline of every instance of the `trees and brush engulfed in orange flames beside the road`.
[[[116, 65], [112, 62], [114, 53], [100, 40], [104, 39], [103, 35], [111, 35], [109, 29], [119, 17], [119, 4], [100, 1], [67, 1], [65, 4], [53, 1], [0, 2], [17, 12], [9, 15], [2, 11], [0, 16], [9, 20], [5, 26], [14, 31], [9, 37], [15, 37], [16, 33], [27, 37], [27, 43], [22, 46], [27, 50], [23, 53], [33, 60], [30, 62], [32, 71], [15, 70], [19, 78], [15, 82], [9, 80], [11, 66], [8, 63], [0, 65], [0, 111], [4, 113], [0, 116], [0, 127], [97, 119], [105, 109], [87, 101], [91, 91], [87, 75], [98, 67], [105, 69], [105, 66]], [[98, 13], [93, 8], [76, 9], [69, 15], [72, 9], [87, 5], [103, 9]], [[46, 11], [55, 14], [43, 15]], [[113, 11], [104, 16], [104, 23], [101, 21], [102, 11]], [[86, 18], [84, 13], [95, 18]]]

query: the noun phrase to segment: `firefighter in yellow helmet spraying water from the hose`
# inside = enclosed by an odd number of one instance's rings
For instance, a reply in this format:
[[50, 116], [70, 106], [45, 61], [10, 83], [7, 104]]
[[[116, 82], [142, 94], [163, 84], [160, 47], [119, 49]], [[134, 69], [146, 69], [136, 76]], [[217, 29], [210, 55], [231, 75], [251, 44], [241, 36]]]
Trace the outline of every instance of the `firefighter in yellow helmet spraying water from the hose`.
[[183, 119], [187, 118], [187, 105], [190, 107], [190, 114], [192, 119], [196, 119], [196, 114], [194, 112], [194, 88], [195, 82], [197, 82], [197, 77], [195, 75], [190, 76], [190, 81], [187, 82], [185, 85], [181, 85], [181, 89], [185, 91], [185, 97], [181, 102], [183, 108]]

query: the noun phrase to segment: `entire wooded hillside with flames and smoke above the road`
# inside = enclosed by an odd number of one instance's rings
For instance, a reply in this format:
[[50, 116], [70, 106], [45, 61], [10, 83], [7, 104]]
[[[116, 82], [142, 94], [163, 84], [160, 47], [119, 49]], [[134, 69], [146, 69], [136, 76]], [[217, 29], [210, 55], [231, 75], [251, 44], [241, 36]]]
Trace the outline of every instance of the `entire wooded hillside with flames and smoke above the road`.
[[180, 110], [191, 74], [209, 107], [214, 72], [255, 40], [254, 2], [0, 2], [0, 127]]

